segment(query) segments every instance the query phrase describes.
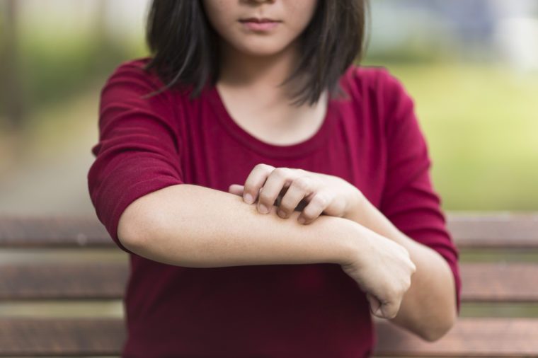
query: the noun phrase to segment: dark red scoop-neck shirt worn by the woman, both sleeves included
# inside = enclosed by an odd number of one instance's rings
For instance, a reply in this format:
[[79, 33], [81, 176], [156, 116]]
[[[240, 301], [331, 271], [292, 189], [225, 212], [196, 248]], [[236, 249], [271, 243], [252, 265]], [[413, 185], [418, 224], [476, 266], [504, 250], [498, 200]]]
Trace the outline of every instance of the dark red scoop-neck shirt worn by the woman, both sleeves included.
[[[430, 180], [413, 100], [384, 69], [350, 66], [348, 100], [332, 98], [321, 128], [299, 144], [262, 142], [239, 127], [214, 86], [195, 100], [159, 89], [125, 62], [101, 92], [99, 141], [88, 171], [98, 219], [130, 253], [124, 357], [367, 357], [376, 338], [365, 294], [336, 264], [194, 268], [143, 258], [118, 240], [138, 197], [190, 183], [227, 191], [257, 163], [338, 175], [402, 232], [436, 250], [461, 281], [458, 251]], [[209, 218], [208, 218], [209, 219]], [[151, 238], [149, 238], [151, 240]]]

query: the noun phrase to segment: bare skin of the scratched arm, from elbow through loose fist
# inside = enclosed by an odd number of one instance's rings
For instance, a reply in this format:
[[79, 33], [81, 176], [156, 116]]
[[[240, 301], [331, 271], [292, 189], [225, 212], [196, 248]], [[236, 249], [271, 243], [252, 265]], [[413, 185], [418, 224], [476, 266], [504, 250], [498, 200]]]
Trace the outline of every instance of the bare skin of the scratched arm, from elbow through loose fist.
[[367, 292], [372, 313], [396, 316], [416, 270], [403, 246], [348, 219], [324, 215], [303, 225], [300, 212], [282, 219], [275, 211], [260, 214], [227, 192], [171, 185], [132, 202], [118, 238], [137, 255], [187, 267], [336, 263]]

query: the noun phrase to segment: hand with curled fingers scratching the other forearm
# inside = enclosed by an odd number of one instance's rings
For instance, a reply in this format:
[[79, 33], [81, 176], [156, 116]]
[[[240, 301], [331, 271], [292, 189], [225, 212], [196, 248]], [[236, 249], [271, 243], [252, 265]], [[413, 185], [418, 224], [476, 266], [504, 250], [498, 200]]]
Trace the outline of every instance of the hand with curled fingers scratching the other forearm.
[[258, 212], [267, 214], [273, 205], [278, 216], [287, 219], [294, 210], [301, 224], [310, 224], [319, 215], [343, 217], [362, 196], [356, 187], [334, 175], [304, 169], [256, 165], [245, 185], [232, 184], [229, 192], [241, 195], [248, 204], [258, 199]]

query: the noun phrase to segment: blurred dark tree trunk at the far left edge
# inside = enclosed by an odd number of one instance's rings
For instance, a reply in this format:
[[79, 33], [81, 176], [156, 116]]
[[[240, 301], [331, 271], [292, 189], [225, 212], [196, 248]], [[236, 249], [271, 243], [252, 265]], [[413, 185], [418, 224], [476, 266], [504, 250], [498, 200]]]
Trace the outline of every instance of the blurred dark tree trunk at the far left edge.
[[6, 117], [3, 127], [19, 130], [24, 125], [24, 106], [21, 76], [18, 71], [17, 16], [20, 0], [4, 0], [4, 14], [0, 30], [0, 96], [4, 108], [0, 117]]

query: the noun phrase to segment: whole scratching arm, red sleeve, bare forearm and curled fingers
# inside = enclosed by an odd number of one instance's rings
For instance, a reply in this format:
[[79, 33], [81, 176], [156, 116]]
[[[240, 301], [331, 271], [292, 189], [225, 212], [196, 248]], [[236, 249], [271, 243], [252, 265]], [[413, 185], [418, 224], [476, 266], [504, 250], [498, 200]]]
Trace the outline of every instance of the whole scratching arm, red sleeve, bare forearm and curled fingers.
[[[387, 144], [379, 205], [374, 206], [360, 189], [342, 178], [266, 164], [253, 169], [244, 187], [231, 185], [229, 191], [244, 195], [249, 204], [259, 197], [260, 212], [277, 202], [281, 217], [299, 209], [299, 218], [304, 217], [306, 224], [321, 213], [340, 216], [404, 246], [416, 272], [399, 313], [391, 321], [433, 341], [450, 330], [459, 313], [459, 252], [447, 231], [440, 197], [433, 189], [428, 146], [413, 100], [387, 71], [378, 75], [379, 87], [374, 92], [381, 96], [376, 103], [384, 103], [384, 110], [378, 112], [379, 121], [385, 123]], [[297, 207], [302, 199], [305, 205]]]

